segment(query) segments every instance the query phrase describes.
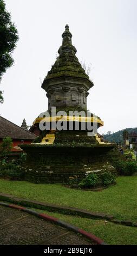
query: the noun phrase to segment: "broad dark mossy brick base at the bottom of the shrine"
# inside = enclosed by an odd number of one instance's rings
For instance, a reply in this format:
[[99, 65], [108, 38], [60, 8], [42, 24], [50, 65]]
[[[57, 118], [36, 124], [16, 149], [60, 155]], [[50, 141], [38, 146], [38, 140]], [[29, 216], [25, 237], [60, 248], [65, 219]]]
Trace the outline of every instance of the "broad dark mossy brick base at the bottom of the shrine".
[[81, 180], [91, 172], [115, 172], [110, 161], [117, 156], [114, 145], [90, 147], [57, 147], [23, 145], [27, 152], [25, 180], [36, 183], [67, 183]]

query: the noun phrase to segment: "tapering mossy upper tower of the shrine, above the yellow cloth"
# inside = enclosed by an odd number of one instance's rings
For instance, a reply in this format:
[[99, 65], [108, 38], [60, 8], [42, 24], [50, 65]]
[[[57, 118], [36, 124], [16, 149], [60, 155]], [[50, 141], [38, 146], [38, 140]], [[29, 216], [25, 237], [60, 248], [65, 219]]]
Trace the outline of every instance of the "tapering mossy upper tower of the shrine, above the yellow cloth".
[[75, 55], [76, 48], [72, 44], [68, 25], [62, 38], [62, 46], [58, 49], [59, 56], [42, 83], [42, 88], [47, 92], [48, 109], [55, 106], [86, 110], [88, 90], [94, 84]]

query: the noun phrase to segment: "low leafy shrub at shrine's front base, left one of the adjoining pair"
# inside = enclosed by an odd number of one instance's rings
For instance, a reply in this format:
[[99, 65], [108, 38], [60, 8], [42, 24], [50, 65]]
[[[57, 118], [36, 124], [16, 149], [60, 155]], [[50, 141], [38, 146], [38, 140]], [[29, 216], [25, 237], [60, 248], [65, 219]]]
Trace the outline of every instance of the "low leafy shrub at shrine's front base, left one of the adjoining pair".
[[100, 178], [95, 173], [90, 173], [84, 178], [80, 183], [79, 186], [81, 188], [90, 188], [90, 187], [97, 187], [100, 184]]

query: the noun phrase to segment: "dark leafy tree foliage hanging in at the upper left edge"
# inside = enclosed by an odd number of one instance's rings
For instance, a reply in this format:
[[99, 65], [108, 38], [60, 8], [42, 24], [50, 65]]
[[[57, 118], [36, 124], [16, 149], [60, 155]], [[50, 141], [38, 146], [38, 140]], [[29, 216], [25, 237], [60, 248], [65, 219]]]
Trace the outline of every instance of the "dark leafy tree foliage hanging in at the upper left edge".
[[[14, 63], [11, 53], [16, 47], [17, 40], [17, 29], [14, 23], [11, 22], [10, 13], [5, 10], [4, 1], [0, 0], [0, 81], [6, 69]], [[0, 103], [3, 103], [1, 90]]]

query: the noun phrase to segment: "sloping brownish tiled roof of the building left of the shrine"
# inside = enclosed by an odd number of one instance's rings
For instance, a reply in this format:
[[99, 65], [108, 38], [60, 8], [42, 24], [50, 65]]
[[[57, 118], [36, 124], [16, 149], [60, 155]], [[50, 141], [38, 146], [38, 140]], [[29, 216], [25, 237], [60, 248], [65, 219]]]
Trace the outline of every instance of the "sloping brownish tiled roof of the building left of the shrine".
[[0, 138], [34, 140], [37, 136], [0, 116]]

